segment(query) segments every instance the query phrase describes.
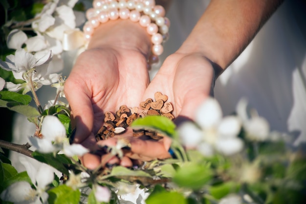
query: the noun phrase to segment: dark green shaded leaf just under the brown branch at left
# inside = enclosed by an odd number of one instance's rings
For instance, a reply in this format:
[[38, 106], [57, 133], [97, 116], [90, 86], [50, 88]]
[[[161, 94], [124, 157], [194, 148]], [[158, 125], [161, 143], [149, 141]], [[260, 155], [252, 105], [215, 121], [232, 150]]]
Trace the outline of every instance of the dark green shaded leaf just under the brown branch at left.
[[37, 151], [32, 153], [32, 156], [46, 164], [49, 164], [50, 166], [53, 166], [63, 174], [69, 175], [68, 169], [65, 167], [65, 164], [71, 164], [71, 161], [67, 159], [64, 155], [53, 155], [52, 153], [49, 154], [43, 154], [39, 153]]

